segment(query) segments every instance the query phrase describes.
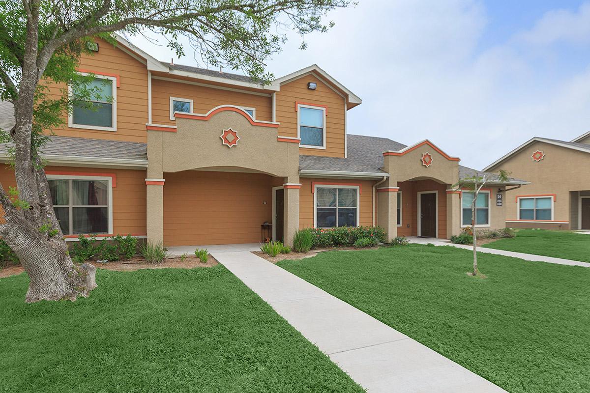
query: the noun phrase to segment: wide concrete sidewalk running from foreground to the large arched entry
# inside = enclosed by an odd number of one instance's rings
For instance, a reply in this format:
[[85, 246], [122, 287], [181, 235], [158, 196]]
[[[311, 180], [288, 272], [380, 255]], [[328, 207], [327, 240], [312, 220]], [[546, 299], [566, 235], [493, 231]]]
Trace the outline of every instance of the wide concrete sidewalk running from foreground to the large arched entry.
[[370, 393], [505, 392], [253, 253], [212, 255]]

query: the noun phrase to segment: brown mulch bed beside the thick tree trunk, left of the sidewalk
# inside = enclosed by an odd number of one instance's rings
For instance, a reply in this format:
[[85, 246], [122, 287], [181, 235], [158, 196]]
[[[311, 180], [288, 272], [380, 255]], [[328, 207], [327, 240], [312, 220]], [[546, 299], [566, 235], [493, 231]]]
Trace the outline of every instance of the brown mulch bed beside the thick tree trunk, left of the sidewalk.
[[[133, 257], [130, 260], [117, 260], [114, 262], [100, 263], [96, 260], [90, 260], [89, 263], [96, 266], [97, 269], [115, 270], [117, 272], [134, 272], [140, 269], [165, 269], [166, 267], [172, 267], [175, 269], [193, 269], [194, 267], [211, 267], [217, 265], [217, 259], [209, 255], [207, 263], [202, 263], [201, 260], [196, 256], [187, 256], [185, 260], [181, 260], [181, 257], [171, 257], [158, 265], [146, 262], [143, 257]], [[6, 278], [9, 276], [19, 275], [24, 272], [25, 269], [21, 265], [11, 265], [0, 269], [0, 278]]]

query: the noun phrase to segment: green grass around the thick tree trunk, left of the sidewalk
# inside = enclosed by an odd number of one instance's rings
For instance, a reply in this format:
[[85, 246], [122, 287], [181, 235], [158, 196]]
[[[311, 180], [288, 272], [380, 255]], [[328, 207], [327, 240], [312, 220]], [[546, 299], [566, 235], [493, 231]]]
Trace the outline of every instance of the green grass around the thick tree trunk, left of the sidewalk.
[[223, 266], [99, 270], [76, 302], [0, 280], [2, 392], [362, 392]]

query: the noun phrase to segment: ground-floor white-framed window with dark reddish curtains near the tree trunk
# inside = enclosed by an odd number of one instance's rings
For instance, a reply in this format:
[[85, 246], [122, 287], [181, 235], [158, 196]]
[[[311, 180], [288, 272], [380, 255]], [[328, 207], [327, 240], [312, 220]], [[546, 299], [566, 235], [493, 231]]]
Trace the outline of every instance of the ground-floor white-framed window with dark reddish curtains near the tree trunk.
[[48, 175], [47, 180], [64, 235], [113, 233], [112, 177]]

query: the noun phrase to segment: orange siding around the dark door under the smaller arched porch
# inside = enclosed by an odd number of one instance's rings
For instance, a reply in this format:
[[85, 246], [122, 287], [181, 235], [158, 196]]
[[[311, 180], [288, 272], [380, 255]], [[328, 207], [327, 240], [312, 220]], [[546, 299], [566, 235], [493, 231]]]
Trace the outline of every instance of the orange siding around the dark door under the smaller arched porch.
[[[418, 191], [438, 191], [438, 237], [447, 237], [447, 187], [433, 180], [402, 181], [402, 226], [398, 236], [418, 235]], [[409, 224], [409, 228], [408, 228]]]

